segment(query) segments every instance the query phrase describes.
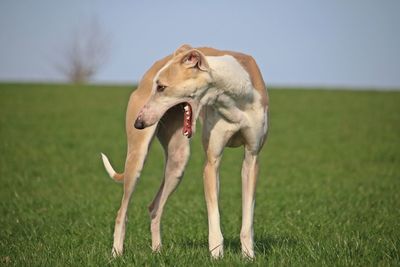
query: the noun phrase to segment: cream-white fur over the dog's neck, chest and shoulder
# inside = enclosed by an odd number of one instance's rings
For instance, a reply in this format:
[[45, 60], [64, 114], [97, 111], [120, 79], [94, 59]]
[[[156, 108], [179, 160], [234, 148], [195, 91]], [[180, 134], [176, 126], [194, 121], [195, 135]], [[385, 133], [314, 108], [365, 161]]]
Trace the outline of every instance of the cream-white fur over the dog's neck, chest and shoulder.
[[[258, 151], [268, 130], [267, 110], [261, 96], [253, 88], [249, 73], [232, 56], [206, 57], [210, 65], [215, 88], [207, 93], [207, 104], [214, 104], [219, 115], [227, 122], [247, 128], [249, 149]], [[260, 123], [262, 122], [262, 123]]]

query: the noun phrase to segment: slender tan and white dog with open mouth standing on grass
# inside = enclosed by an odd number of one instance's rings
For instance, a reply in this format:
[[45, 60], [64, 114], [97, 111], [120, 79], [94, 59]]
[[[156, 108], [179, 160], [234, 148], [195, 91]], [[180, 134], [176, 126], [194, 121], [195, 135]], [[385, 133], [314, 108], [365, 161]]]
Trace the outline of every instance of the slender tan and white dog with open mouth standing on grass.
[[200, 118], [206, 154], [203, 178], [211, 257], [223, 256], [218, 208], [222, 152], [225, 147], [244, 146], [240, 241], [242, 254], [254, 258], [253, 214], [258, 155], [267, 138], [268, 106], [264, 80], [256, 61], [249, 55], [182, 45], [173, 54], [154, 63], [129, 99], [124, 172], [116, 173], [102, 154], [110, 177], [124, 184], [115, 221], [113, 256], [122, 255], [129, 201], [154, 136], [166, 155], [164, 179], [149, 206], [152, 250], [161, 249], [161, 216], [168, 197], [182, 179], [190, 154], [189, 139]]

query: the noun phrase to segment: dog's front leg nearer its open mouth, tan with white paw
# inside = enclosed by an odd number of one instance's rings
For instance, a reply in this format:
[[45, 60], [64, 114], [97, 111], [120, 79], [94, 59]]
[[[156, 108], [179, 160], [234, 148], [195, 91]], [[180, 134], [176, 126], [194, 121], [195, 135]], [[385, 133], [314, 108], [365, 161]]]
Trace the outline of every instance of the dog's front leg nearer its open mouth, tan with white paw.
[[223, 236], [218, 209], [220, 158], [209, 156], [204, 168], [204, 194], [208, 212], [208, 245], [213, 258], [223, 256]]

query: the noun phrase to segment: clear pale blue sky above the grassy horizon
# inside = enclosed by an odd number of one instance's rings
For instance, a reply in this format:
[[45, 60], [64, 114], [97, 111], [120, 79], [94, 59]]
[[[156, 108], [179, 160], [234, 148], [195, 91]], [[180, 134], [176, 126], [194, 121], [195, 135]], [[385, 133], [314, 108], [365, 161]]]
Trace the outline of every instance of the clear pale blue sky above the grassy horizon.
[[74, 31], [110, 36], [96, 82], [133, 83], [179, 45], [253, 55], [271, 85], [400, 88], [400, 1], [0, 2], [0, 80], [57, 81]]

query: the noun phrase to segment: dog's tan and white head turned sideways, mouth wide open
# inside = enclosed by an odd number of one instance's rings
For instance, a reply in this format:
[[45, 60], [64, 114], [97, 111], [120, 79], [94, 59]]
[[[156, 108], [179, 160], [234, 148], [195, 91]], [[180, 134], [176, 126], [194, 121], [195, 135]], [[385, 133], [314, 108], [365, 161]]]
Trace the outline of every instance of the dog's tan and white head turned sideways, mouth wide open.
[[181, 46], [155, 75], [151, 96], [140, 110], [135, 128], [149, 127], [157, 123], [168, 109], [181, 105], [184, 114], [182, 132], [191, 137], [201, 109], [200, 100], [211, 81], [204, 54], [188, 45]]

